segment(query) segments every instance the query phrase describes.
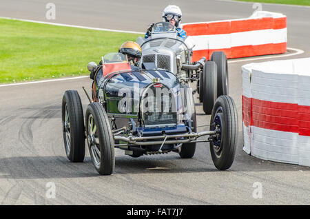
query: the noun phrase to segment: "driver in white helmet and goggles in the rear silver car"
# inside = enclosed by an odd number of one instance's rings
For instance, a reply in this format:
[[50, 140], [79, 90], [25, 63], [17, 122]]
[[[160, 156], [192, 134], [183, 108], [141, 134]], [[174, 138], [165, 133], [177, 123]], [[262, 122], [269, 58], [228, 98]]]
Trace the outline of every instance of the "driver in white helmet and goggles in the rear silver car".
[[[169, 5], [163, 10], [163, 21], [169, 22], [172, 25], [176, 26], [176, 31], [178, 32], [178, 36], [180, 38], [185, 39], [186, 38], [186, 32], [182, 28], [179, 28], [179, 24], [182, 18], [182, 12], [178, 6]], [[149, 36], [151, 36], [151, 31], [154, 26], [154, 23], [149, 25], [149, 28], [147, 29], [147, 32], [144, 35], [144, 38], [147, 39]]]

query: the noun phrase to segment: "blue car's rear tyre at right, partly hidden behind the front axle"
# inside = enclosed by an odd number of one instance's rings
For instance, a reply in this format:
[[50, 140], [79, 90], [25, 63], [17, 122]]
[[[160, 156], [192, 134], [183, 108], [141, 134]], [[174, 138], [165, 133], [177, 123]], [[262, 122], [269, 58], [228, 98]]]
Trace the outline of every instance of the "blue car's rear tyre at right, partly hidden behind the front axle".
[[[189, 88], [188, 85], [183, 85], [182, 88]], [[196, 110], [195, 110], [195, 103], [194, 98], [192, 94], [192, 90], [185, 90], [185, 98], [184, 102], [186, 101], [187, 107], [189, 107], [189, 110], [187, 112], [191, 114], [192, 118], [192, 132], [197, 132], [196, 128]], [[196, 152], [196, 143], [186, 143], [183, 144], [180, 147], [180, 152], [178, 154], [180, 155], [180, 158], [192, 158]]]

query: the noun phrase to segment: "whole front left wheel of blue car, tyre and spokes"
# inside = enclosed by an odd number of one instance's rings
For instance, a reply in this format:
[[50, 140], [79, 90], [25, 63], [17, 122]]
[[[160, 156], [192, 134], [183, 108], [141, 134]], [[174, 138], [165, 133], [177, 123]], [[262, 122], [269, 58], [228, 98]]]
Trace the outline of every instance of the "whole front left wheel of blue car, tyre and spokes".
[[85, 114], [88, 149], [92, 163], [101, 175], [111, 175], [115, 166], [114, 138], [101, 103], [90, 103]]

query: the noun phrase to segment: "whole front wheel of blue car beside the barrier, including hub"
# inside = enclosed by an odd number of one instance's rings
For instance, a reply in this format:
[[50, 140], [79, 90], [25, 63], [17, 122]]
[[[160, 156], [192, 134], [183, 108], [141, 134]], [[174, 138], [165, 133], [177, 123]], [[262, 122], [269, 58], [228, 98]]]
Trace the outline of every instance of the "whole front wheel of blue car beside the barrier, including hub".
[[210, 130], [219, 125], [220, 135], [210, 142], [210, 152], [217, 169], [231, 167], [238, 143], [238, 114], [236, 104], [230, 96], [220, 96], [211, 114]]

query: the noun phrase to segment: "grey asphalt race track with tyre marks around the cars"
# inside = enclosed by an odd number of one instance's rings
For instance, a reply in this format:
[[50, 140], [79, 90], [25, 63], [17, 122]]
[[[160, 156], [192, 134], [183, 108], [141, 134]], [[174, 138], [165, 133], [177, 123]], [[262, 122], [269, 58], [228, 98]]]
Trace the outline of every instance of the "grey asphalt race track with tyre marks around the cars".
[[[0, 16], [48, 21], [48, 1], [2, 1]], [[166, 1], [60, 1], [50, 22], [143, 32], [161, 19]], [[169, 3], [176, 3], [170, 1]], [[178, 1], [183, 22], [248, 17], [251, 3]], [[262, 5], [263, 10], [287, 15], [288, 47], [309, 56], [310, 8]], [[1, 27], [0, 27], [1, 30]], [[104, 40], [104, 39], [103, 39]], [[262, 58], [260, 56], [260, 58]], [[274, 58], [274, 59], [289, 59]], [[267, 59], [271, 60], [271, 59]], [[259, 60], [259, 61], [264, 61]], [[229, 92], [239, 116], [239, 143], [234, 164], [218, 171], [209, 145], [199, 143], [192, 159], [170, 153], [131, 158], [116, 149], [112, 176], [99, 176], [88, 151], [84, 163], [65, 157], [61, 129], [61, 99], [65, 90], [78, 90], [83, 108], [90, 79], [0, 87], [0, 203], [2, 205], [309, 205], [310, 168], [260, 160], [242, 151], [241, 74], [248, 61], [229, 63]], [[251, 61], [253, 62], [253, 61]], [[197, 104], [198, 125], [209, 123]], [[198, 131], [203, 130], [198, 128]], [[48, 182], [56, 198], [45, 196]], [[252, 196], [262, 184], [262, 198]]]

